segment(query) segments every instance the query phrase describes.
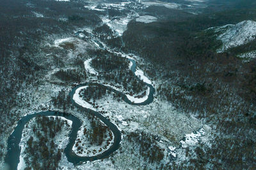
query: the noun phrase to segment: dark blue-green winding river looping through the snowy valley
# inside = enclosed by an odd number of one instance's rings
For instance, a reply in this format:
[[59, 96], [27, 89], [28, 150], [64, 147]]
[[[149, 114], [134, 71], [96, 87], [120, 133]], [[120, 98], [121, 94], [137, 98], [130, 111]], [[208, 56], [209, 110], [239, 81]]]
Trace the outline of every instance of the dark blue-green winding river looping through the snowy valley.
[[[131, 71], [133, 73], [135, 73], [136, 62], [134, 59], [129, 59], [129, 60], [132, 62]], [[144, 84], [147, 85], [147, 87], [149, 87], [149, 94], [148, 94], [147, 100], [143, 101], [142, 103], [132, 103], [132, 101], [130, 101], [127, 98], [127, 96], [125, 96], [125, 94], [123, 92], [112, 89], [111, 87], [107, 87], [107, 88], [108, 88], [108, 90], [111, 90], [112, 92], [115, 92], [116, 94], [120, 94], [122, 96], [122, 99], [128, 104], [146, 105], [146, 104], [152, 103], [152, 101], [154, 100], [154, 87], [152, 85], [146, 83], [145, 81], [144, 81]], [[65, 155], [67, 156], [67, 160], [69, 162], [72, 162], [74, 165], [81, 164], [88, 160], [93, 161], [93, 160], [104, 159], [104, 158], [108, 157], [111, 153], [118, 150], [120, 141], [122, 138], [121, 138], [121, 132], [118, 130], [116, 125], [113, 124], [110, 120], [108, 120], [108, 118], [104, 117], [99, 112], [90, 110], [89, 108], [84, 108], [83, 106], [77, 104], [76, 101], [74, 101], [73, 96], [74, 96], [76, 90], [79, 87], [83, 87], [85, 85], [104, 86], [104, 85], [98, 84], [98, 83], [85, 83], [85, 84], [78, 85], [77, 87], [72, 89], [72, 91], [69, 94], [72, 104], [74, 104], [76, 107], [83, 109], [84, 111], [86, 111], [88, 113], [95, 115], [95, 117], [99, 118], [102, 122], [104, 122], [104, 124], [106, 124], [106, 126], [108, 126], [109, 129], [114, 134], [113, 145], [111, 145], [110, 148], [108, 148], [108, 150], [106, 150], [105, 152], [103, 152], [99, 155], [96, 155], [93, 157], [79, 157], [78, 155], [76, 155], [76, 153], [74, 153], [72, 151], [72, 146], [74, 146], [76, 138], [77, 138], [77, 131], [79, 131], [79, 129], [82, 125], [82, 122], [81, 122], [81, 120], [79, 120], [79, 118], [77, 118], [76, 116], [74, 116], [72, 114], [61, 113], [58, 111], [42, 111], [39, 113], [33, 113], [33, 114], [26, 115], [26, 116], [20, 118], [19, 122], [17, 123], [17, 126], [15, 127], [14, 131], [8, 138], [8, 148], [7, 148], [8, 151], [7, 151], [7, 155], [5, 157], [5, 162], [6, 162], [6, 164], [8, 164], [8, 166], [10, 166], [10, 169], [17, 169], [17, 165], [19, 164], [19, 156], [20, 156], [19, 143], [20, 143], [20, 139], [22, 137], [22, 131], [24, 129], [24, 126], [29, 122], [29, 120], [31, 120], [32, 118], [35, 118], [35, 117], [59, 116], [59, 117], [65, 117], [68, 120], [72, 120], [72, 122], [73, 122], [72, 123], [72, 131], [68, 135], [69, 143], [66, 146], [64, 152], [65, 152]]]

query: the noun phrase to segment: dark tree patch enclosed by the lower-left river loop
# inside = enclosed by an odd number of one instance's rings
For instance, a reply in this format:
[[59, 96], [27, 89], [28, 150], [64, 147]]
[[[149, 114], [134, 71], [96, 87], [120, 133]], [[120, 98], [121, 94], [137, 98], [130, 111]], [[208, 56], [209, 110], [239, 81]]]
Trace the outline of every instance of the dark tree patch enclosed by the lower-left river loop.
[[24, 157], [28, 167], [26, 169], [57, 169], [63, 150], [54, 143], [54, 137], [69, 126], [67, 121], [56, 117], [36, 117], [31, 131], [33, 135], [28, 139]]

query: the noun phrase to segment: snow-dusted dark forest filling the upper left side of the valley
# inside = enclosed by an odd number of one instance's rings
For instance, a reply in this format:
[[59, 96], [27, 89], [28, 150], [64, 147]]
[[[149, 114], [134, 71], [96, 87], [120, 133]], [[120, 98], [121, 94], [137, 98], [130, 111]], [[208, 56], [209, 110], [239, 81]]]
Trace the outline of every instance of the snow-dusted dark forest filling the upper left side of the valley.
[[[21, 116], [12, 110], [23, 100], [17, 93], [28, 85], [38, 85], [41, 76], [49, 69], [36, 63], [36, 60], [45, 61], [38, 55], [41, 41], [53, 34], [70, 32], [74, 27], [101, 22], [97, 15], [80, 6], [79, 3], [67, 6], [66, 2], [44, 0], [0, 2], [0, 134], [10, 134], [10, 127]], [[35, 17], [32, 9], [44, 17]], [[80, 20], [73, 15], [80, 16]], [[60, 20], [63, 17], [68, 18], [67, 22]], [[0, 141], [0, 148], [2, 160], [2, 149], [6, 148], [3, 140]]]

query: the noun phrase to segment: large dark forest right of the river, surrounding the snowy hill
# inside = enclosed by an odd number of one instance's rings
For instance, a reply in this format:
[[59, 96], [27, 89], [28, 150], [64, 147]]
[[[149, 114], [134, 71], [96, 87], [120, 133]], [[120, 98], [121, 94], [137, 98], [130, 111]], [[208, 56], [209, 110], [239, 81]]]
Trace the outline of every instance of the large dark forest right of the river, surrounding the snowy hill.
[[[189, 164], [202, 168], [212, 164], [216, 169], [253, 169], [256, 166], [252, 156], [256, 146], [253, 138], [256, 60], [243, 62], [234, 52], [254, 48], [250, 47], [254, 42], [230, 52], [216, 53], [220, 41], [204, 30], [253, 19], [256, 11], [254, 8], [210, 11], [182, 20], [130, 22], [123, 35], [123, 48], [148, 61], [148, 66], [145, 64], [148, 76], [162, 79], [164, 83], [157, 87], [157, 96], [170, 101], [177, 110], [196, 115], [220, 132], [214, 137], [212, 148], [202, 146], [202, 150], [198, 150], [201, 156], [196, 160], [191, 158]], [[181, 167], [188, 168], [189, 164]]]

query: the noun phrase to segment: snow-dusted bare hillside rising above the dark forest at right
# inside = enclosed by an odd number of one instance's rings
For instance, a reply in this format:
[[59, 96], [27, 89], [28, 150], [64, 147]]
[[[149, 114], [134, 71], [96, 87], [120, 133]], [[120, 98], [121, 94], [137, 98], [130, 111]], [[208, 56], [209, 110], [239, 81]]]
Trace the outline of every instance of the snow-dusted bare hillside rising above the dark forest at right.
[[[227, 28], [227, 30], [223, 31], [221, 28]], [[234, 46], [244, 45], [256, 38], [256, 22], [252, 20], [245, 20], [236, 25], [228, 25], [228, 27], [215, 27], [214, 29], [216, 32], [221, 30], [217, 39], [222, 41], [223, 46], [217, 50], [218, 52], [224, 52]]]

